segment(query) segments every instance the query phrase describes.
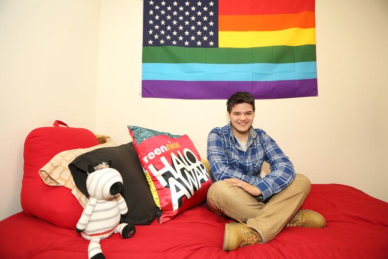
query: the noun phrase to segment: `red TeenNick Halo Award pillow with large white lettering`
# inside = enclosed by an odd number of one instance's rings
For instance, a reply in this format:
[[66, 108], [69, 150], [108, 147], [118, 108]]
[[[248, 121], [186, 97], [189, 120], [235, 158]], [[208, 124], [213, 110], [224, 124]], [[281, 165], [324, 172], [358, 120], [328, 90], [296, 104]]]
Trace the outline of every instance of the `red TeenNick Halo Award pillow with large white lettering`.
[[193, 142], [137, 126], [128, 126], [135, 151], [158, 206], [162, 224], [206, 200], [209, 174]]

